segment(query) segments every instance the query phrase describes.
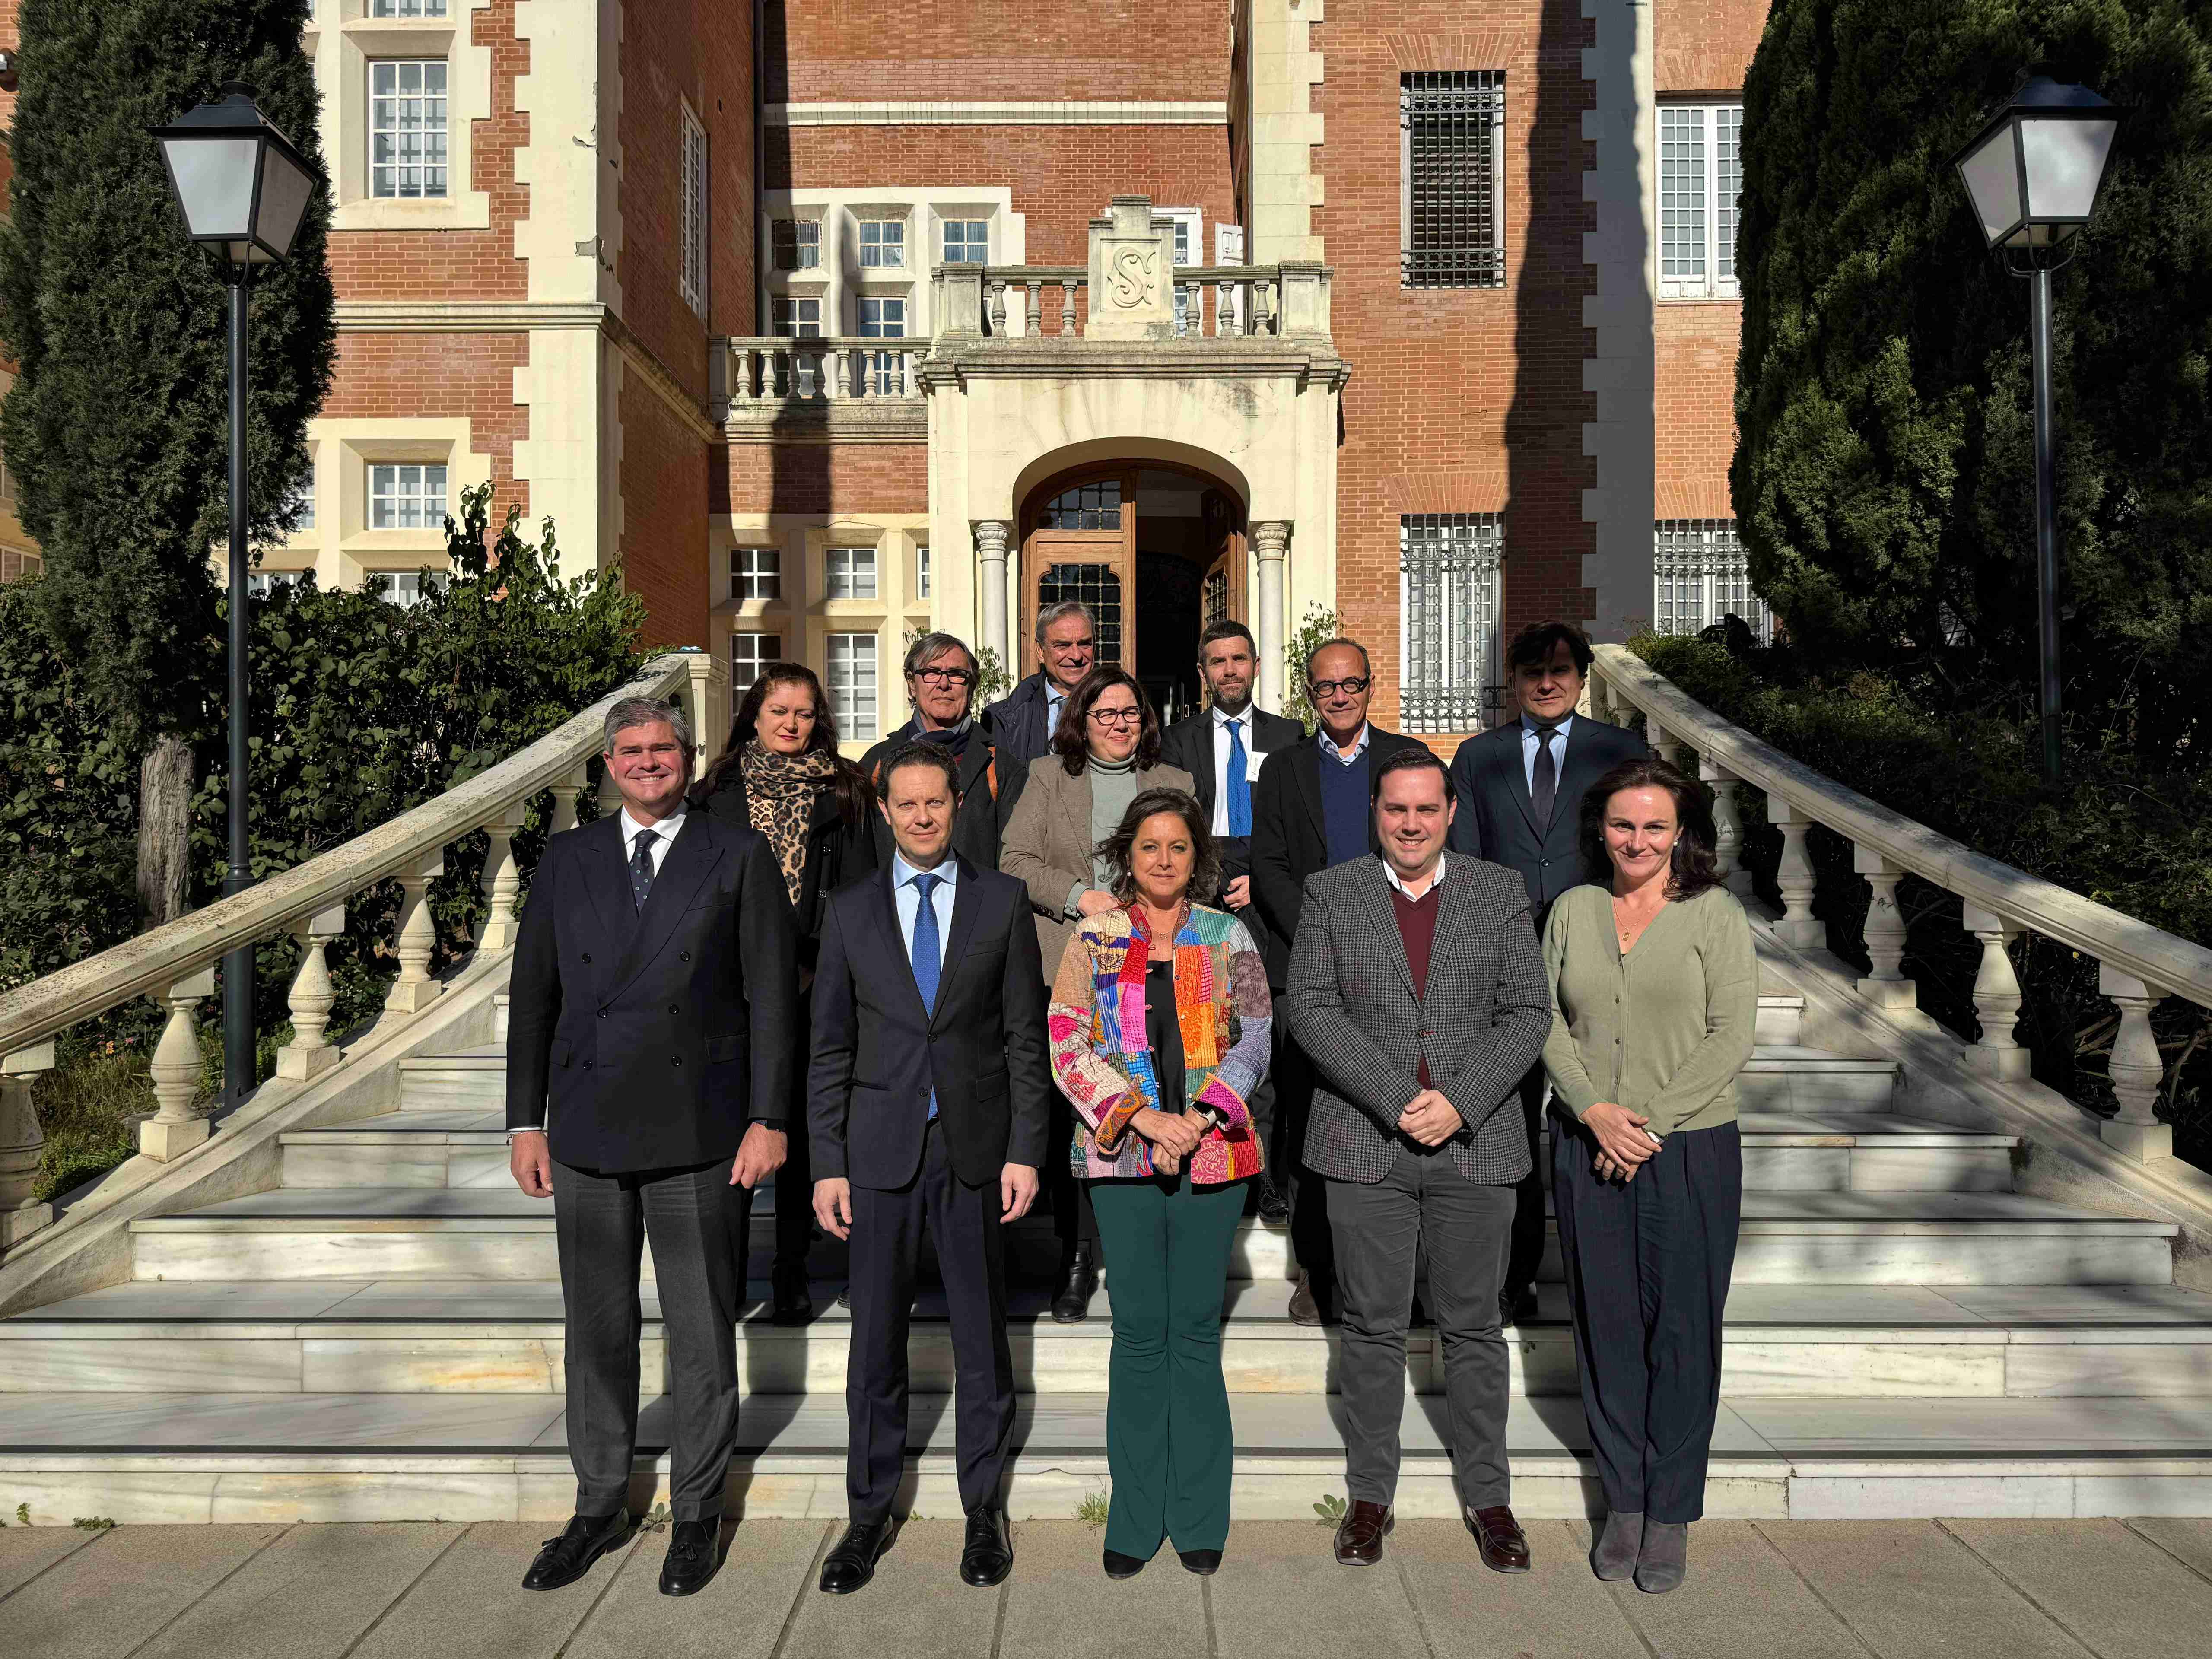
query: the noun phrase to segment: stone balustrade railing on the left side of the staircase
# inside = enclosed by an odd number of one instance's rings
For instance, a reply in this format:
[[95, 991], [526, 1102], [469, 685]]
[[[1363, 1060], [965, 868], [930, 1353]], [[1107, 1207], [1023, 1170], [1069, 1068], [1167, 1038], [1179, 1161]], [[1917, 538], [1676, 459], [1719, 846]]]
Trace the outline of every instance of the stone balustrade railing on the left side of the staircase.
[[148, 998], [166, 1009], [168, 1022], [150, 1062], [153, 1117], [139, 1124], [139, 1157], [166, 1164], [188, 1152], [212, 1128], [208, 1117], [192, 1110], [199, 1084], [195, 1015], [199, 1002], [215, 993], [215, 964], [223, 956], [283, 933], [299, 938], [301, 960], [290, 991], [292, 1042], [276, 1051], [276, 1077], [307, 1082], [327, 1073], [343, 1055], [330, 1040], [336, 998], [323, 953], [345, 933], [347, 902], [385, 880], [400, 885], [392, 940], [400, 971], [374, 1026], [383, 1035], [427, 1009], [442, 991], [429, 971], [438, 940], [427, 891], [445, 874], [447, 847], [478, 830], [491, 836], [482, 874], [487, 916], [476, 951], [511, 949], [522, 898], [513, 838], [531, 801], [551, 792], [549, 830], [575, 825], [577, 796], [602, 748], [602, 721], [622, 697], [681, 699], [692, 730], [714, 732], [712, 717], [726, 714], [712, 695], [717, 672], [719, 659], [710, 653], [672, 650], [653, 657], [622, 690], [438, 799], [243, 894], [0, 995], [0, 1250], [53, 1221], [53, 1208], [33, 1199], [44, 1139], [31, 1110], [31, 1079], [53, 1068], [53, 1040], [62, 1031], [133, 998]]

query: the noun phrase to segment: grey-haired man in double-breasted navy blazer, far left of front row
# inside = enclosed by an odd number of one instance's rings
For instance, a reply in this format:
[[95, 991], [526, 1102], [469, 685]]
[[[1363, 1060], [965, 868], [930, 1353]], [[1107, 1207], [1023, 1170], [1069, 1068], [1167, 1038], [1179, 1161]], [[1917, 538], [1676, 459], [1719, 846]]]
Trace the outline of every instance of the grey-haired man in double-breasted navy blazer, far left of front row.
[[622, 810], [546, 841], [509, 987], [509, 1166], [553, 1199], [575, 1464], [575, 1515], [522, 1586], [573, 1584], [630, 1533], [650, 1237], [675, 1396], [661, 1595], [692, 1595], [719, 1566], [752, 1188], [783, 1164], [796, 940], [768, 838], [684, 807], [684, 710], [615, 703], [604, 759]]

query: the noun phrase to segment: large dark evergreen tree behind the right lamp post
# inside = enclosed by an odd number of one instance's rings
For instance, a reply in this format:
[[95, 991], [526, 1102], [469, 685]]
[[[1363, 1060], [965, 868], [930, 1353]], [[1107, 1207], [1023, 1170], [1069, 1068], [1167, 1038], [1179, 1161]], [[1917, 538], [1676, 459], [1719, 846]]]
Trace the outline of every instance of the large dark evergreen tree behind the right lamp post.
[[1754, 586], [1823, 668], [2035, 706], [2028, 292], [1951, 166], [2033, 66], [2121, 106], [2055, 283], [2066, 710], [2203, 763], [2208, 35], [2174, 0], [1776, 0], [1743, 86], [1732, 489]]

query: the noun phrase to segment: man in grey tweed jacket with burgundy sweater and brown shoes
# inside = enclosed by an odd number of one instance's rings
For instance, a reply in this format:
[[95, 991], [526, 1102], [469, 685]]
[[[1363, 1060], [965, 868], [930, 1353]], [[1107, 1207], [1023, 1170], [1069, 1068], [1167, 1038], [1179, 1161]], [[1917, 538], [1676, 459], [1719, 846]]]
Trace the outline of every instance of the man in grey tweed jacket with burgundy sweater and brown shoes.
[[1520, 1115], [1500, 1110], [1551, 1033], [1551, 984], [1517, 876], [1444, 856], [1451, 779], [1425, 748], [1376, 763], [1380, 858], [1305, 883], [1287, 1011], [1318, 1075], [1305, 1164], [1329, 1183], [1352, 1509], [1336, 1559], [1374, 1566], [1391, 1528], [1413, 1254], [1429, 1303], [1460, 1504], [1484, 1566], [1528, 1571], [1506, 1471], [1509, 1358], [1498, 1283]]

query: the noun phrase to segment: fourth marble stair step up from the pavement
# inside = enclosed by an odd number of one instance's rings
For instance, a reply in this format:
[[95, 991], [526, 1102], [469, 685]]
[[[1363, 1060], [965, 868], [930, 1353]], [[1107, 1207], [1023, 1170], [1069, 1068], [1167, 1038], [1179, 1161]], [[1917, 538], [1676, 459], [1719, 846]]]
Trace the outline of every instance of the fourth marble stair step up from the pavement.
[[[509, 1186], [507, 1119], [409, 1110], [281, 1135], [288, 1188]], [[1743, 1183], [1776, 1192], [2004, 1192], [2017, 1135], [1891, 1113], [1745, 1113]]]

